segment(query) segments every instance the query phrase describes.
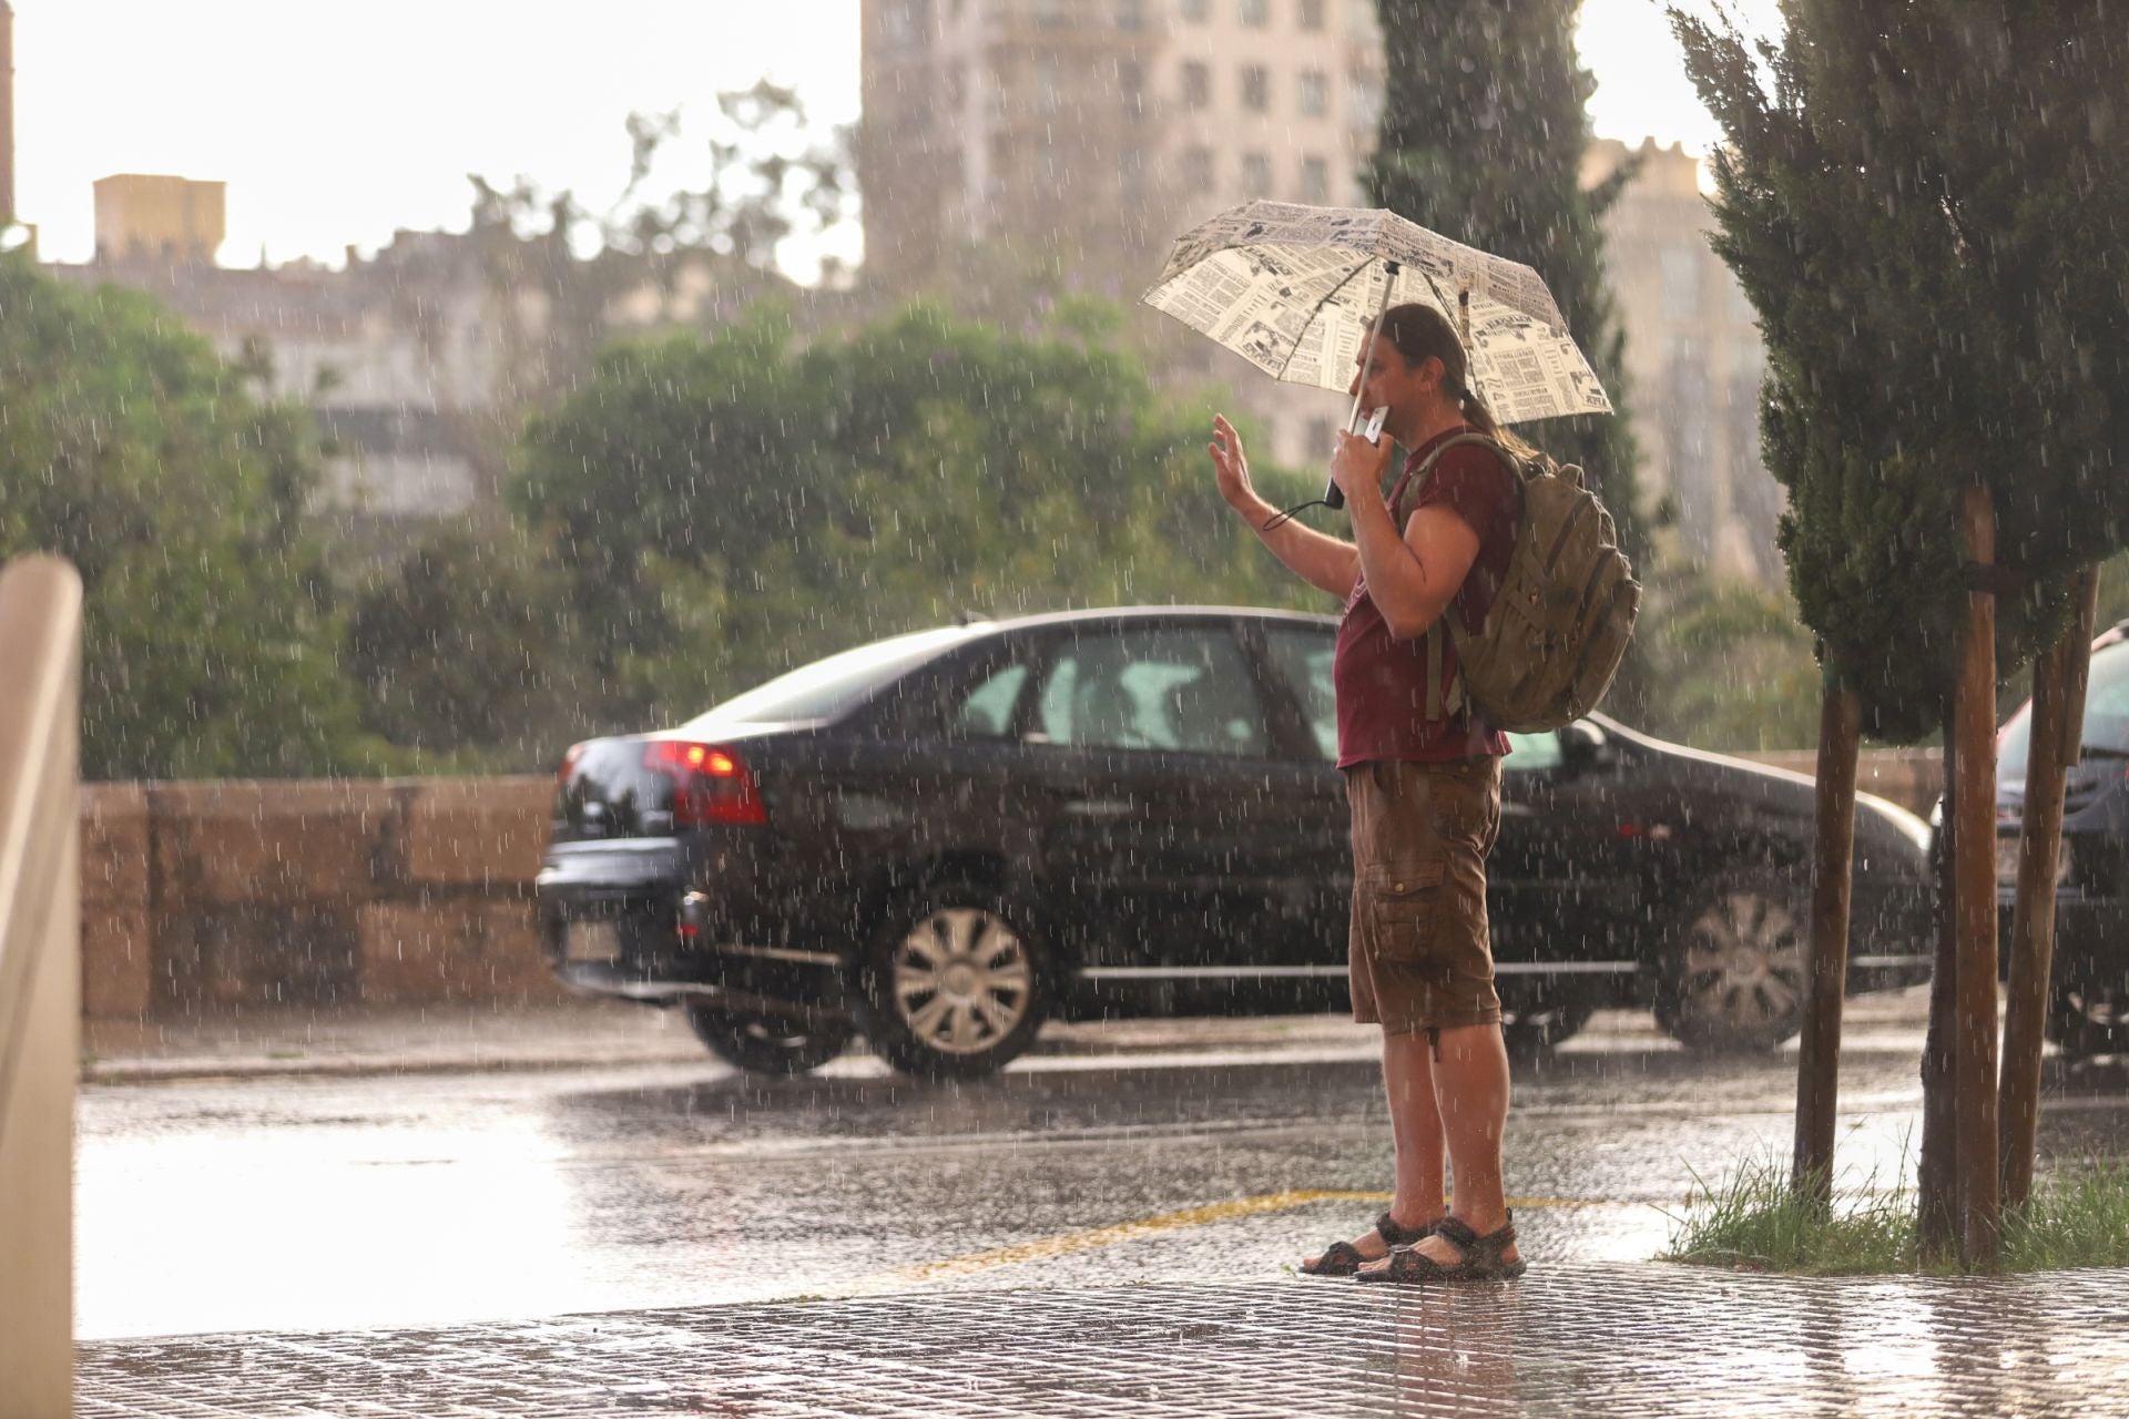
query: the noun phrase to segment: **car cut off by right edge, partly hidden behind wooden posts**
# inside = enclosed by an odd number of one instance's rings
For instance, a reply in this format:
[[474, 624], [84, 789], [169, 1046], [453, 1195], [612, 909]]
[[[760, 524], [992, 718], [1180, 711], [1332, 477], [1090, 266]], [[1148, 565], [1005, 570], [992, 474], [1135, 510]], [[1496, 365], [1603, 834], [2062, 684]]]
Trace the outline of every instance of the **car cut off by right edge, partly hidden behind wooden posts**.
[[[2027, 702], [1997, 734], [1997, 925], [2010, 942], [2033, 728]], [[2048, 1038], [2067, 1057], [2129, 1051], [2129, 621], [2093, 642], [2082, 759], [2063, 783]]]

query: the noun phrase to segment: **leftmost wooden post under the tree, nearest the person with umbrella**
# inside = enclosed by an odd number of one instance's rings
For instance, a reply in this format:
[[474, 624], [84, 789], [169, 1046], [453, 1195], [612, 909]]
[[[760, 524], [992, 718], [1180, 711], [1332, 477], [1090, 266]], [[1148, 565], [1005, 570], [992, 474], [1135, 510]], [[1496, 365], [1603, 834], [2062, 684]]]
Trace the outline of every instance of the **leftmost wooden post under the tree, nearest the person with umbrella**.
[[1812, 974], [1797, 1053], [1797, 1153], [1790, 1187], [1833, 1204], [1842, 1002], [1848, 996], [1848, 887], [1856, 836], [1861, 704], [1829, 672], [1818, 708], [1818, 832], [1812, 847]]

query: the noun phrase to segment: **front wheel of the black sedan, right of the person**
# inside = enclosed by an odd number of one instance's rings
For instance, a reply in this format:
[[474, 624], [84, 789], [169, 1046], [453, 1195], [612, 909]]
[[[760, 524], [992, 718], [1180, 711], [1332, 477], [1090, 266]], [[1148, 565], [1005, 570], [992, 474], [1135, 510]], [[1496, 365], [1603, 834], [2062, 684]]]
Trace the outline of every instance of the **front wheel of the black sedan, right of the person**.
[[1656, 1023], [1686, 1049], [1763, 1053], [1803, 1028], [1810, 904], [1782, 881], [1714, 881], [1673, 919]]

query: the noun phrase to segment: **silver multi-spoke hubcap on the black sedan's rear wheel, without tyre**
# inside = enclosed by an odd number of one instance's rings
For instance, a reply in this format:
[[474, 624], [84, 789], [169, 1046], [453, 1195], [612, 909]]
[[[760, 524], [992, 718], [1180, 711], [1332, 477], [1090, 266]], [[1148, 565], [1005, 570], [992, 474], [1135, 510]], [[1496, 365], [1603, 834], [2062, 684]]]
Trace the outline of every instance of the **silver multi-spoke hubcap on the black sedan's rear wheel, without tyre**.
[[894, 1004], [918, 1040], [950, 1055], [994, 1047], [1033, 1004], [1028, 951], [977, 906], [935, 911], [894, 949]]

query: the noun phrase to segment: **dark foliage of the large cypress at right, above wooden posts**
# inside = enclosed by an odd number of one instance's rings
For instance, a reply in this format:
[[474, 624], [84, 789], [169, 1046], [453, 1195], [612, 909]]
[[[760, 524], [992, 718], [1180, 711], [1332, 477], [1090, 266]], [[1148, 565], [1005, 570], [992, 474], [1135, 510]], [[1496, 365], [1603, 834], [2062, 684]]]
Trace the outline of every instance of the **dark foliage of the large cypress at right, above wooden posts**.
[[1784, 15], [1765, 49], [1673, 23], [1729, 138], [1716, 249], [1767, 338], [1799, 613], [1865, 730], [1914, 740], [1954, 679], [1961, 487], [1991, 489], [2012, 568], [2003, 674], [2061, 634], [2067, 574], [2129, 536], [2129, 34], [2097, 0]]

